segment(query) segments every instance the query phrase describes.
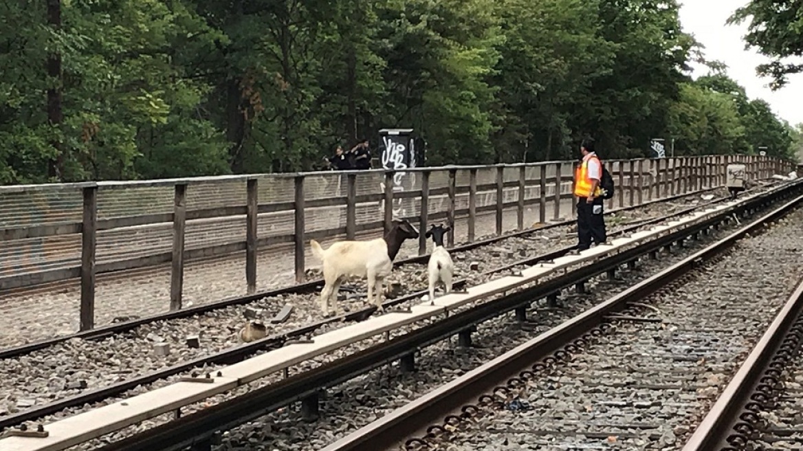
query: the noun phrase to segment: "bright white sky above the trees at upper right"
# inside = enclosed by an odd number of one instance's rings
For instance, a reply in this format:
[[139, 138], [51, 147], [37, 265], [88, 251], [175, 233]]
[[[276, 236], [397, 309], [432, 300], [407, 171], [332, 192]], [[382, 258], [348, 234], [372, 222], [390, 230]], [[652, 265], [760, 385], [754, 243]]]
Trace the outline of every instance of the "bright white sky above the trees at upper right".
[[[715, 59], [728, 65], [728, 75], [744, 86], [751, 99], [764, 99], [772, 110], [789, 121], [789, 124], [803, 123], [803, 75], [789, 77], [786, 87], [772, 91], [768, 87], [770, 79], [756, 75], [756, 67], [767, 63], [768, 58], [759, 55], [754, 49], [745, 50], [742, 37], [747, 34], [748, 23], [725, 25], [728, 17], [748, 0], [681, 0], [680, 22], [683, 30], [695, 35], [705, 46], [707, 59]], [[707, 68], [692, 64], [693, 76], [705, 75]]]

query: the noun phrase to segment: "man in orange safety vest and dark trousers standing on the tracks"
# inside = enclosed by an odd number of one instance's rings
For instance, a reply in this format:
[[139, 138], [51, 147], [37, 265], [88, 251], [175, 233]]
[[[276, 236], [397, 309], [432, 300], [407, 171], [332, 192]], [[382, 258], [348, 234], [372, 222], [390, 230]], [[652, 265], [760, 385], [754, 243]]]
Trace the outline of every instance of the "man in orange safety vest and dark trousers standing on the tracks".
[[592, 242], [601, 244], [607, 239], [602, 214], [602, 164], [594, 152], [593, 139], [580, 144], [583, 155], [574, 175], [574, 195], [577, 196], [577, 250], [586, 250]]

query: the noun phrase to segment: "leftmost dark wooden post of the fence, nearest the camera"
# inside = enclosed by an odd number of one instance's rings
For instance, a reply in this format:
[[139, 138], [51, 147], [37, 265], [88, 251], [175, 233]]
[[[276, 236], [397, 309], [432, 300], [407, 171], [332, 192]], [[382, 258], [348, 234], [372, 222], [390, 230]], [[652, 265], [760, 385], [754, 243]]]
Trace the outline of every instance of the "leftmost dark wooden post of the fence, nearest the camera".
[[98, 187], [84, 188], [84, 217], [81, 224], [81, 311], [80, 330], [95, 328], [95, 256], [97, 246]]

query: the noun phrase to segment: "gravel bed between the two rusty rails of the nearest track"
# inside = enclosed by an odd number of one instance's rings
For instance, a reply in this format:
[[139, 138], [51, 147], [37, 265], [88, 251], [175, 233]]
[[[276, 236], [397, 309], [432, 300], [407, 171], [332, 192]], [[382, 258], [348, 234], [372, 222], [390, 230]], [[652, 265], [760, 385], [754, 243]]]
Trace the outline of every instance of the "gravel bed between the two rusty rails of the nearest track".
[[461, 426], [444, 449], [681, 448], [797, 285], [801, 221], [798, 209], [652, 296], [662, 323], [614, 322], [536, 372], [518, 409]]

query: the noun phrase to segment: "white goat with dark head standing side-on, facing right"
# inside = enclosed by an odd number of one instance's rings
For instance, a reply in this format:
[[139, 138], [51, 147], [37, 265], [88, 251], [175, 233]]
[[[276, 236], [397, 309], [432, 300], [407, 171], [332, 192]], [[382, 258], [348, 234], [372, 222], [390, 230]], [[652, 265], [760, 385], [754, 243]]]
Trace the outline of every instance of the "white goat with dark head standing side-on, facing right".
[[[335, 303], [335, 315], [340, 315], [337, 292], [345, 278], [368, 278], [368, 301], [382, 311], [382, 283], [393, 270], [402, 243], [407, 238], [418, 238], [418, 229], [406, 220], [393, 221], [384, 238], [368, 241], [336, 242], [324, 250], [318, 242], [309, 242], [314, 254], [323, 263], [324, 289], [320, 291], [320, 307], [329, 314], [329, 301]], [[373, 295], [376, 288], [376, 296]]]

